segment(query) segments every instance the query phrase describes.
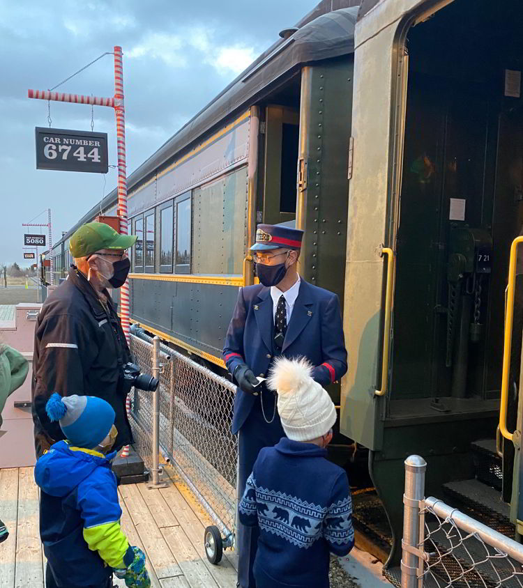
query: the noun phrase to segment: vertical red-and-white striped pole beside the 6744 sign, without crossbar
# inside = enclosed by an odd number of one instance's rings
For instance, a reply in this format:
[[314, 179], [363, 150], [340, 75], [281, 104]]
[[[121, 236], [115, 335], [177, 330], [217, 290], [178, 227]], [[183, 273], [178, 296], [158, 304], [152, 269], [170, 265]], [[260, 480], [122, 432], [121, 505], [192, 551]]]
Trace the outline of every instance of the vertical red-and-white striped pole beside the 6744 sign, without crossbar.
[[[116, 145], [118, 148], [118, 216], [120, 233], [127, 235], [127, 170], [126, 170], [126, 107], [123, 102], [123, 63], [121, 47], [114, 47], [114, 113], [116, 114]], [[129, 343], [129, 280], [120, 288], [121, 326]], [[130, 395], [126, 398], [127, 415], [130, 413]], [[129, 455], [129, 446], [123, 447], [121, 456]]]

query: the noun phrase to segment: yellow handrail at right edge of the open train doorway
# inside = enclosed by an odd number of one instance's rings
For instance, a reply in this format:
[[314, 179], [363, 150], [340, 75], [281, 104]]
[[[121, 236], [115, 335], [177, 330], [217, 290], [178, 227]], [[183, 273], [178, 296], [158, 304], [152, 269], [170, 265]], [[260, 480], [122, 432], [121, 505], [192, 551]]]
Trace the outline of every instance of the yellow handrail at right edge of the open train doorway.
[[513, 433], [507, 431], [508, 378], [510, 376], [510, 352], [512, 351], [512, 327], [514, 318], [514, 291], [516, 283], [517, 246], [523, 237], [517, 237], [510, 246], [508, 265], [507, 302], [505, 313], [505, 341], [503, 343], [503, 371], [501, 372], [501, 405], [499, 407], [499, 431], [504, 438], [512, 441]]

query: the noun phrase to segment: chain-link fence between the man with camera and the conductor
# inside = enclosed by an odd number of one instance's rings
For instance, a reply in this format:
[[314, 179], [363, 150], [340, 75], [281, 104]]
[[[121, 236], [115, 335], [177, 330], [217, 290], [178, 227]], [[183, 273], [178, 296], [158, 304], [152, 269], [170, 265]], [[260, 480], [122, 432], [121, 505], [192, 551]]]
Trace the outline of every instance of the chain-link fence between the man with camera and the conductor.
[[[136, 327], [131, 355], [144, 373], [153, 373], [151, 337]], [[160, 451], [234, 543], [236, 523], [237, 438], [231, 433], [236, 386], [181, 353], [160, 345], [157, 392], [133, 388], [130, 423], [137, 453], [153, 468], [153, 394], [160, 405]]]

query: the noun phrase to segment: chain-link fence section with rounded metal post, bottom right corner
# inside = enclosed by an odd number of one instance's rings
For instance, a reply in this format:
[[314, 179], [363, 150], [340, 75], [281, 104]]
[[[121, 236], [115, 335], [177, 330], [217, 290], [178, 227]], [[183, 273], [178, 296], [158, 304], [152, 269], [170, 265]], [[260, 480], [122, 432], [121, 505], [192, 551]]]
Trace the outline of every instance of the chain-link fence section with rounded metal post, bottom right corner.
[[426, 467], [405, 460], [402, 588], [523, 587], [523, 545], [425, 498]]

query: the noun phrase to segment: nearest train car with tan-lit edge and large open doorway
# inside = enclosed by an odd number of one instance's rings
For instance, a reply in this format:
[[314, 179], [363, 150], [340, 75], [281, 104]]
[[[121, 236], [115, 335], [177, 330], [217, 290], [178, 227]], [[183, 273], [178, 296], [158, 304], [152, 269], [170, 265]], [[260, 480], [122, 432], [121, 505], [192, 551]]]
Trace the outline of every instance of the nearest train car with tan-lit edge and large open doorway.
[[503, 519], [506, 532], [502, 489], [512, 532], [523, 529], [521, 323], [503, 370], [523, 222], [522, 24], [512, 0], [363, 0], [358, 13], [341, 430], [370, 449], [395, 532], [390, 564], [409, 454], [427, 461], [428, 494]]

